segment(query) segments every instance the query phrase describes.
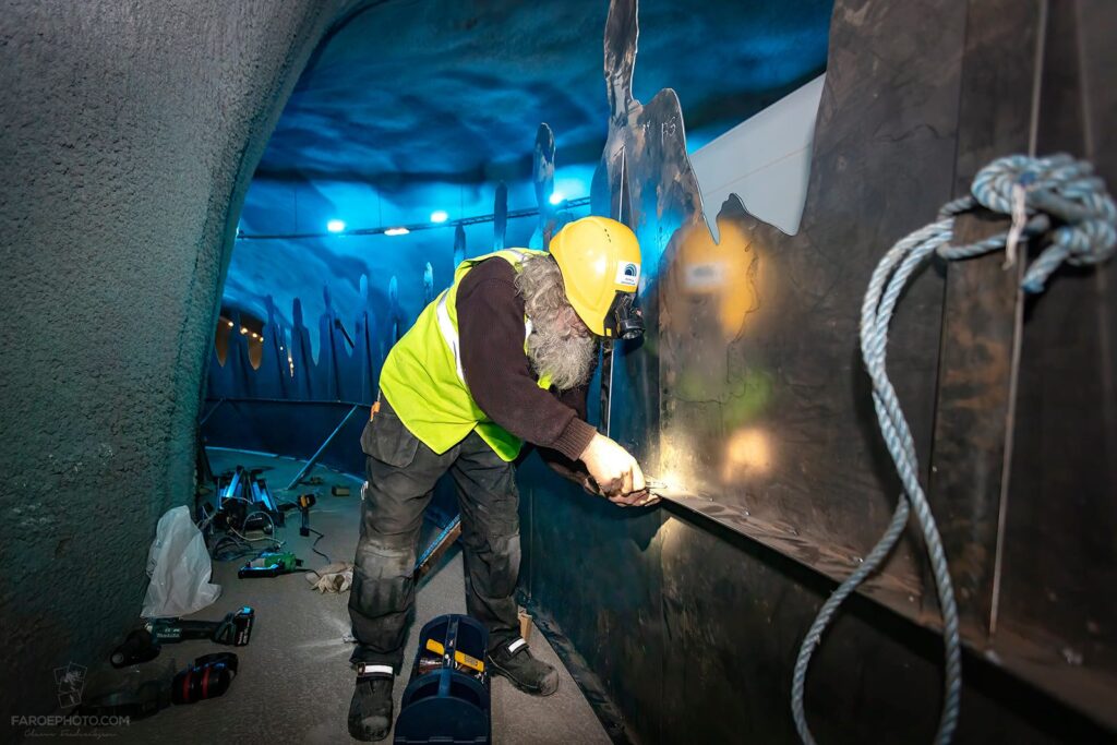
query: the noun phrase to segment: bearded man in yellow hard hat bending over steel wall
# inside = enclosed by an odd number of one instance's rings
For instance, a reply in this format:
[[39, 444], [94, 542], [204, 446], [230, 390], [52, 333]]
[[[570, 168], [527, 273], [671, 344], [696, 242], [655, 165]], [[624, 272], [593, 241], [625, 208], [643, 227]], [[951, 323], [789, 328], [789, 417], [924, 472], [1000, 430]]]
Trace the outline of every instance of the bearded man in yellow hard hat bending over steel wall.
[[577, 220], [554, 237], [550, 254], [514, 249], [462, 261], [388, 355], [379, 409], [361, 438], [367, 488], [350, 596], [353, 737], [381, 739], [391, 728], [419, 529], [446, 471], [458, 490], [466, 604], [488, 628], [489, 670], [531, 694], [557, 688], [555, 669], [519, 638], [514, 461], [526, 441], [556, 470], [620, 505], [655, 499], [636, 459], [585, 421], [595, 337], [642, 331], [632, 305], [639, 279], [631, 230], [605, 218]]

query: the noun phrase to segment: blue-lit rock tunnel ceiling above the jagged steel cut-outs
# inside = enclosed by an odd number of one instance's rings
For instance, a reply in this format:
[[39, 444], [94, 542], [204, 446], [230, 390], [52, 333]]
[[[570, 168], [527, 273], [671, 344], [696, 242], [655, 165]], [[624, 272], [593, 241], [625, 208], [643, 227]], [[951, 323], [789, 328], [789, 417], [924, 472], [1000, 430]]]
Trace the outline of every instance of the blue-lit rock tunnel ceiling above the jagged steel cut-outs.
[[[579, 12], [571, 12], [577, 6]], [[825, 64], [832, 2], [640, 6], [637, 97], [672, 87], [690, 149], [716, 137], [815, 77]], [[534, 208], [532, 147], [540, 123], [556, 141], [555, 189], [588, 198], [608, 134], [601, 35], [608, 2], [389, 2], [335, 30], [300, 77], [257, 170], [241, 213], [246, 233], [324, 232], [423, 222], [433, 210], [491, 214], [498, 184], [508, 209]], [[561, 22], [556, 22], [561, 19]], [[585, 213], [574, 210], [575, 217]], [[509, 246], [533, 219], [509, 219]], [[491, 223], [466, 227], [469, 255], [487, 250]], [[267, 318], [267, 296], [288, 327], [296, 296], [312, 323], [330, 286], [343, 318], [361, 309], [369, 277], [376, 317], [422, 306], [427, 261], [441, 287], [454, 230], [405, 237], [237, 241], [225, 287], [230, 311]], [[345, 323], [349, 323], [346, 321]], [[352, 333], [352, 329], [350, 329]]]

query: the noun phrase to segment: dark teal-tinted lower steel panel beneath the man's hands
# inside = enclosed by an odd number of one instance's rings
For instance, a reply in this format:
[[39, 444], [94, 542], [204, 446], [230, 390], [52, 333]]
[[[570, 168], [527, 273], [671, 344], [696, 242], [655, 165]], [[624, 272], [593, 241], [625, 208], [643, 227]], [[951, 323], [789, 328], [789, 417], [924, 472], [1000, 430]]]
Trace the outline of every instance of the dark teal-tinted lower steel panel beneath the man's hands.
[[[555, 478], [538, 458], [519, 469], [521, 588], [553, 614], [624, 713], [632, 742], [659, 742], [665, 696], [661, 572], [663, 515], [620, 509]], [[620, 742], [623, 742], [620, 741]]]

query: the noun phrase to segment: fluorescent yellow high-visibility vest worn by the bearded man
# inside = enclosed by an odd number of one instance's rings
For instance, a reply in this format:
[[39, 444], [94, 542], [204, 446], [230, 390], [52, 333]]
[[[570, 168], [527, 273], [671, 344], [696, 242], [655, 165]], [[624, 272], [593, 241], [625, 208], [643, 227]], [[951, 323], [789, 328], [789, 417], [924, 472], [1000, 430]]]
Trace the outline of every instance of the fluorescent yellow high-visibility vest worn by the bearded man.
[[[502, 459], [512, 461], [519, 455], [519, 438], [490, 420], [466, 385], [458, 338], [458, 287], [485, 259], [499, 257], [518, 273], [525, 259], [545, 254], [514, 248], [466, 259], [455, 269], [454, 284], [423, 309], [384, 360], [381, 392], [411, 433], [435, 452], [446, 452], [476, 429]], [[532, 323], [525, 317], [525, 351], [531, 333]], [[541, 376], [538, 385], [551, 388], [550, 376]]]

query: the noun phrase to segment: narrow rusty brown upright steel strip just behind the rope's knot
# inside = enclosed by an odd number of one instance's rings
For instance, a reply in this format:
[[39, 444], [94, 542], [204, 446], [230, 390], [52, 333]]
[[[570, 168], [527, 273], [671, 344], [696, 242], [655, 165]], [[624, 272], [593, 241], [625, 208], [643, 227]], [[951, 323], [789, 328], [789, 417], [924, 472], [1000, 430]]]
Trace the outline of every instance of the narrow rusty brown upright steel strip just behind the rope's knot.
[[[954, 195], [970, 192], [995, 157], [1031, 141], [1040, 4], [970, 2], [962, 65]], [[1016, 95], [1005, 96], [1005, 88]], [[962, 216], [955, 242], [1008, 230], [1008, 220]], [[963, 633], [987, 642], [1011, 404], [1022, 267], [999, 254], [946, 265], [935, 445], [928, 498], [951, 560]]]

